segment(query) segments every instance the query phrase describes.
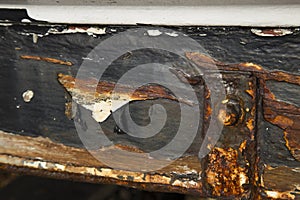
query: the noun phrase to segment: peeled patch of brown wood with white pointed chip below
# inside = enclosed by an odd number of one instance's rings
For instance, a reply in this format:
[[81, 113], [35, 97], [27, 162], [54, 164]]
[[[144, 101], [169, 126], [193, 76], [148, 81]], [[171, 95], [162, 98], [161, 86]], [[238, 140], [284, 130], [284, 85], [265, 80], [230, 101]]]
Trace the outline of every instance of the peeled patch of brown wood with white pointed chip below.
[[116, 84], [112, 82], [98, 82], [92, 78], [80, 80], [61, 73], [58, 74], [58, 81], [71, 94], [73, 101], [92, 111], [92, 117], [97, 122], [105, 121], [112, 112], [130, 101], [164, 98], [193, 104], [189, 100], [176, 98], [169, 90], [156, 84], [143, 85], [135, 90], [129, 85], [118, 84], [115, 89]]

